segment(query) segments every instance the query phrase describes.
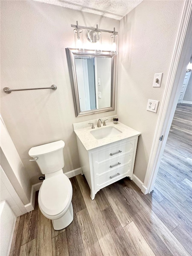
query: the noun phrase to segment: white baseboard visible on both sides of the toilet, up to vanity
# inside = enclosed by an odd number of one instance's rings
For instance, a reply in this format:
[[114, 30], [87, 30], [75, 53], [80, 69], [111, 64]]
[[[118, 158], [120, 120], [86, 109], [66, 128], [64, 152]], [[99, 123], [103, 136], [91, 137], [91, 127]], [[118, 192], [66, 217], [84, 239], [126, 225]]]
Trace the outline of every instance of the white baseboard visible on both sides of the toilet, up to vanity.
[[[64, 173], [68, 178], [72, 178], [78, 174], [81, 174], [81, 168], [77, 168], [75, 170], [69, 171], [67, 173]], [[32, 185], [31, 188], [31, 198], [30, 198], [30, 203], [25, 205], [25, 209], [27, 212], [31, 212], [35, 208], [35, 192], [38, 191], [41, 187], [42, 182], [36, 183]]]

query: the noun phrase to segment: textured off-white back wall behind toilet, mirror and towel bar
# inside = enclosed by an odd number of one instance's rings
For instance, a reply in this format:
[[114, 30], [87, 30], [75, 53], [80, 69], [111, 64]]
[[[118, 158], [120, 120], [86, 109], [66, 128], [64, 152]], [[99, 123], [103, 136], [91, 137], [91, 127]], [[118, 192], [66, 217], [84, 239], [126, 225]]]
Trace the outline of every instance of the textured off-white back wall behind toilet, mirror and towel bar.
[[[75, 117], [66, 47], [74, 48], [73, 28], [96, 26], [119, 31], [119, 21], [35, 1], [1, 1], [1, 92], [56, 84], [58, 89], [1, 93], [1, 115], [32, 183], [41, 172], [29, 162], [31, 147], [64, 140], [64, 172], [80, 166], [73, 123], [93, 119]], [[85, 38], [84, 38], [85, 41]], [[110, 34], [102, 37], [109, 50]], [[86, 42], [86, 41], [85, 41]], [[85, 47], [91, 49], [91, 43]], [[110, 112], [110, 115], [116, 111]], [[109, 114], [107, 114], [109, 115]], [[96, 114], [102, 118], [106, 113]]]

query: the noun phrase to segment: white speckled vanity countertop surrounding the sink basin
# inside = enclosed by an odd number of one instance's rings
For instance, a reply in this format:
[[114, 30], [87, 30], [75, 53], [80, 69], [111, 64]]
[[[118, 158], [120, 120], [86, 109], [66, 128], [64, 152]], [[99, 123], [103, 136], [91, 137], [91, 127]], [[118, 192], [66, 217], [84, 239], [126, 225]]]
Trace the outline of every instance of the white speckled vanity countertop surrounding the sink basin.
[[[91, 127], [86, 127], [83, 129], [77, 129], [74, 130], [76, 133], [76, 136], [79, 138], [79, 140], [82, 142], [83, 146], [86, 150], [95, 149], [100, 146], [104, 146], [113, 142], [116, 142], [118, 140], [127, 139], [134, 136], [139, 136], [141, 133], [128, 127], [127, 125], [124, 125], [120, 122], [117, 124], [114, 124], [113, 122], [106, 123], [107, 126], [103, 126], [101, 124], [101, 127], [95, 127], [95, 129], [91, 129]], [[115, 135], [113, 137], [105, 137], [103, 139], [95, 139], [95, 137], [90, 133], [90, 131], [102, 129], [105, 127], [113, 126], [117, 128], [118, 130], [122, 131], [121, 134]]]

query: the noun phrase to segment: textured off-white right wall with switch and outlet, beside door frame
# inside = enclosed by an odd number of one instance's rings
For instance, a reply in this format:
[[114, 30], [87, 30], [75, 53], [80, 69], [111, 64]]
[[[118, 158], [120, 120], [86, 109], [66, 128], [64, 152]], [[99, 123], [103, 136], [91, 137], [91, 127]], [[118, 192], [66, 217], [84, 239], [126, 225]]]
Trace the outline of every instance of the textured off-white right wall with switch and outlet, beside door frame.
[[[146, 1], [120, 21], [118, 117], [141, 132], [134, 174], [143, 182], [164, 95], [184, 1]], [[153, 88], [163, 72], [161, 88]], [[157, 113], [146, 111], [159, 100]]]

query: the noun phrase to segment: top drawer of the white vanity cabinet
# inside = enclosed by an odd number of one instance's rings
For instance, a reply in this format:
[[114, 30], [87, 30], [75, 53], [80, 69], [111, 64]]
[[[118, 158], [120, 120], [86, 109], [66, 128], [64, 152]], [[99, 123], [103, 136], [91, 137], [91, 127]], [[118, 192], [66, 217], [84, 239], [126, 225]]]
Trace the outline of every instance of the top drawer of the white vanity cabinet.
[[93, 153], [93, 162], [103, 162], [117, 156], [124, 155], [125, 153], [131, 153], [134, 151], [135, 140], [131, 140], [116, 146], [109, 146], [106, 149], [99, 150]]

